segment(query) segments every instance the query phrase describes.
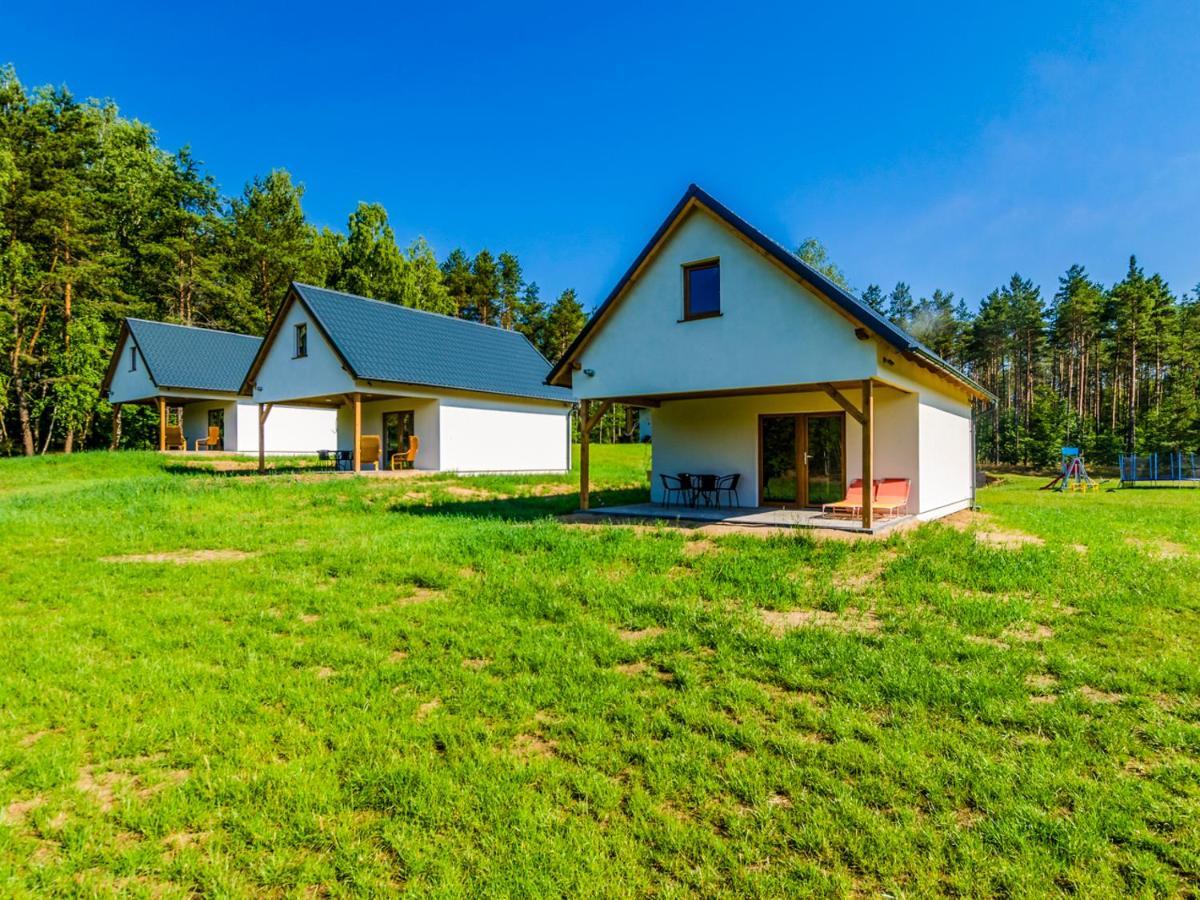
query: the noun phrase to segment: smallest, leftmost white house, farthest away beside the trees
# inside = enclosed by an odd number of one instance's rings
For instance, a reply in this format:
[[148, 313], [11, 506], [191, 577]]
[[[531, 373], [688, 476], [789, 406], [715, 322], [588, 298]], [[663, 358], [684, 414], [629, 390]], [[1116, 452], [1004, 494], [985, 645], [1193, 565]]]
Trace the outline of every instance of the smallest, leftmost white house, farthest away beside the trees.
[[[157, 407], [160, 450], [168, 420], [176, 418], [187, 448], [214, 426], [220, 449], [258, 452], [258, 407], [239, 391], [262, 343], [232, 331], [125, 319], [102, 391], [115, 407]], [[266, 426], [266, 442], [280, 454], [330, 449], [337, 443], [337, 416], [329, 409], [281, 407]]]

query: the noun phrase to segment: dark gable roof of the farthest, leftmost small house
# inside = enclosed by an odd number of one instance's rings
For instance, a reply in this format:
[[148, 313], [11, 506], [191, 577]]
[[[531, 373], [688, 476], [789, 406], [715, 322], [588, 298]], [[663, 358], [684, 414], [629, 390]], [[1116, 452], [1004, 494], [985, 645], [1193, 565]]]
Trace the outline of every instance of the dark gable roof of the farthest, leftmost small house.
[[145, 362], [150, 380], [160, 389], [238, 394], [263, 338], [191, 325], [172, 325], [148, 319], [125, 319], [116, 349], [104, 376], [108, 390], [128, 337]]

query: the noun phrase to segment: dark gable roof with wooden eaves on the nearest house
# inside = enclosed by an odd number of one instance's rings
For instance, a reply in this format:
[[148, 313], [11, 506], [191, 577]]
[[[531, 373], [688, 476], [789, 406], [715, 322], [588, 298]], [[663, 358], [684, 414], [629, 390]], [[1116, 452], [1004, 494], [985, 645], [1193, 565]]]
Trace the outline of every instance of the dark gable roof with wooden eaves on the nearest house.
[[682, 221], [688, 212], [697, 206], [708, 210], [769, 259], [778, 263], [802, 281], [808, 282], [822, 298], [839, 307], [842, 312], [863, 325], [863, 328], [874, 332], [876, 336], [895, 348], [899, 353], [905, 354], [918, 365], [930, 368], [938, 374], [959, 383], [968, 394], [988, 400], [995, 400], [995, 396], [973, 378], [952, 366], [916, 337], [877, 313], [866, 302], [858, 299], [845, 288], [841, 288], [829, 281], [828, 277], [808, 265], [808, 263], [788, 251], [784, 247], [784, 245], [768, 238], [697, 185], [688, 186], [683, 197], [674, 205], [674, 209], [671, 210], [662, 224], [659, 226], [649, 242], [642, 248], [642, 252], [637, 254], [634, 264], [630, 265], [625, 274], [620, 277], [617, 286], [612, 289], [608, 296], [605, 298], [605, 301], [596, 307], [592, 318], [588, 319], [587, 325], [583, 326], [583, 330], [578, 334], [578, 336], [576, 336], [575, 341], [571, 342], [571, 346], [566, 348], [566, 353], [563, 354], [563, 358], [554, 364], [553, 370], [551, 370], [551, 373], [546, 379], [547, 382], [551, 384], [562, 383], [563, 376], [570, 371], [570, 366], [575, 361], [575, 356], [578, 355], [580, 350], [583, 349], [583, 346], [590, 338], [593, 331], [595, 331], [612, 307], [620, 300], [626, 288], [630, 287], [634, 280], [642, 271], [644, 264], [664, 245], [665, 239], [673, 230], [674, 226]]

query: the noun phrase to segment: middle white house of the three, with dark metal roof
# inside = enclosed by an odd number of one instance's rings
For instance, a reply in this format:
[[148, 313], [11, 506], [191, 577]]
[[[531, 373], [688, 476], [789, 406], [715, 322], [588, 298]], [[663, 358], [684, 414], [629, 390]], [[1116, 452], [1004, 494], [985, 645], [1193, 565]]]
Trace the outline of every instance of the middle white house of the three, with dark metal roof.
[[566, 472], [574, 401], [548, 372], [516, 331], [293, 283], [242, 391], [268, 421], [277, 403], [336, 409], [356, 472], [364, 436], [384, 467], [415, 436], [418, 469]]

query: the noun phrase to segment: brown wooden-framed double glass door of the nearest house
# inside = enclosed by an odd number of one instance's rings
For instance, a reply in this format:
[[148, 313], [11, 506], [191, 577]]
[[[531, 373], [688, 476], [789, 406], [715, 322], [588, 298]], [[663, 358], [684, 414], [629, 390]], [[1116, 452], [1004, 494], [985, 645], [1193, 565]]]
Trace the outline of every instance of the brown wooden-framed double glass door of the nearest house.
[[820, 506], [846, 487], [844, 413], [788, 413], [758, 419], [760, 503]]

